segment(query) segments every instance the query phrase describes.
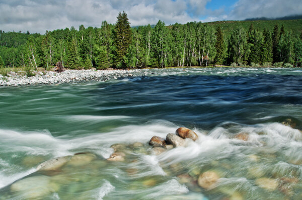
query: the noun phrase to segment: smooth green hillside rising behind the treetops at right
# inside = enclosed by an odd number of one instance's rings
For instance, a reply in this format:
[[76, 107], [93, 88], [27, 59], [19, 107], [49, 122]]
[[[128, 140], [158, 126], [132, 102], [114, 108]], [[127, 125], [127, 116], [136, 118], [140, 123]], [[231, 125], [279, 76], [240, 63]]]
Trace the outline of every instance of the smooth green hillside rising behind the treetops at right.
[[259, 21], [217, 21], [208, 22], [208, 24], [213, 25], [215, 28], [220, 25], [222, 32], [226, 35], [230, 35], [238, 26], [242, 26], [244, 29], [248, 30], [250, 25], [253, 24], [254, 29], [263, 31], [264, 28], [272, 31], [275, 24], [280, 28], [284, 26], [285, 32], [292, 30], [294, 34], [300, 34], [302, 32], [302, 19], [299, 20], [259, 20]]

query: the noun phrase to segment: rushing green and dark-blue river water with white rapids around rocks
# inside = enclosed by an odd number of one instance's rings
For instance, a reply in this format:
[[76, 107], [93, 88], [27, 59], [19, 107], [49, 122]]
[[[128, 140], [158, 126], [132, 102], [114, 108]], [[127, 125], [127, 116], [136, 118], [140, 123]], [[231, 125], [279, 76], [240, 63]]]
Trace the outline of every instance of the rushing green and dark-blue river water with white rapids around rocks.
[[[144, 71], [0, 88], [0, 199], [302, 198], [302, 69]], [[181, 126], [198, 140], [151, 153]]]

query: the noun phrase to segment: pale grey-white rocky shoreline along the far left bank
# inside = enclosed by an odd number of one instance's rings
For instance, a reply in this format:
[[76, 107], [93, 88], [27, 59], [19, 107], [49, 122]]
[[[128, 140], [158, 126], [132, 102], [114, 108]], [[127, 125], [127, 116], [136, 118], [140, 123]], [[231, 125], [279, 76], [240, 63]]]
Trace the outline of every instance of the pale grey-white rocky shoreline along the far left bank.
[[10, 72], [8, 76], [0, 75], [0, 86], [24, 86], [37, 84], [57, 84], [83, 81], [106, 81], [123, 77], [133, 77], [133, 73], [143, 76], [142, 70], [66, 70], [61, 73], [45, 71], [27, 77], [25, 73]]

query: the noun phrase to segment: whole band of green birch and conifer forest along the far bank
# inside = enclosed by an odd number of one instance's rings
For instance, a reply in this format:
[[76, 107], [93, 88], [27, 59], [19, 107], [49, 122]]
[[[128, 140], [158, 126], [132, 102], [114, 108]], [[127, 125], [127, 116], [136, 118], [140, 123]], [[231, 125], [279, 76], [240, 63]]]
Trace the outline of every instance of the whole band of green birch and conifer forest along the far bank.
[[0, 67], [68, 69], [166, 68], [169, 66], [301, 66], [302, 32], [284, 26], [237, 26], [229, 34], [210, 23], [130, 27], [127, 14], [115, 25], [83, 25], [44, 35], [0, 30]]

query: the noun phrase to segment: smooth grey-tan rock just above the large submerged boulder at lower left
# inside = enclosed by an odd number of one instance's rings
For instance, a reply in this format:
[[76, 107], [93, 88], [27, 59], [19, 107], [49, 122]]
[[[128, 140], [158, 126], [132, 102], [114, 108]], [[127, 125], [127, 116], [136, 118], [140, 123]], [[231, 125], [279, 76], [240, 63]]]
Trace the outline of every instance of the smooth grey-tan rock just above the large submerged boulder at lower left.
[[53, 158], [38, 165], [37, 170], [55, 171], [65, 165], [72, 156]]

